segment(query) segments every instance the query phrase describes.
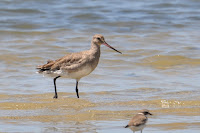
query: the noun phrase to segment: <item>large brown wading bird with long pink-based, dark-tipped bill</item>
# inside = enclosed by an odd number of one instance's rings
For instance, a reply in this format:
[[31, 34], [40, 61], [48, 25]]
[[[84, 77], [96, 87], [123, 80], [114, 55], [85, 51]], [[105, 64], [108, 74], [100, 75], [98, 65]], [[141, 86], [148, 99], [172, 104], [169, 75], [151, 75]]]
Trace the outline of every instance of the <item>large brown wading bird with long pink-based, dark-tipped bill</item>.
[[54, 77], [55, 95], [53, 98], [58, 98], [56, 89], [56, 79], [60, 77], [71, 78], [76, 80], [76, 95], [79, 98], [78, 82], [82, 77], [89, 75], [97, 66], [101, 54], [100, 46], [105, 45], [116, 52], [122, 54], [120, 51], [111, 47], [106, 43], [104, 37], [96, 34], [92, 38], [91, 48], [87, 51], [79, 53], [71, 53], [55, 61], [49, 60], [47, 64], [38, 66], [38, 73]]

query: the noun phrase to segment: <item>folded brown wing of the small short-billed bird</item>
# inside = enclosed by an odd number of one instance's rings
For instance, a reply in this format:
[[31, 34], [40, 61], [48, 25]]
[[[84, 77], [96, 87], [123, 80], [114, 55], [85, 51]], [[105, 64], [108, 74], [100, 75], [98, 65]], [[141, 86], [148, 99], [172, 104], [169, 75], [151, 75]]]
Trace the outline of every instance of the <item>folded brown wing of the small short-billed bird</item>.
[[142, 124], [145, 124], [147, 122], [147, 117], [144, 115], [136, 115], [134, 116], [130, 122], [129, 122], [129, 126], [140, 126]]

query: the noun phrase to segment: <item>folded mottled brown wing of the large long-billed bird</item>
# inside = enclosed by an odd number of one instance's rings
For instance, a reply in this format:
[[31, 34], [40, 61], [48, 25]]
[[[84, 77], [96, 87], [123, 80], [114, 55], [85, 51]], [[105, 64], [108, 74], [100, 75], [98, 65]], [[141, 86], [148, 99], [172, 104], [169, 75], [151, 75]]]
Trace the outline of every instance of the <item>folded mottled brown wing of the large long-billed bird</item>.
[[72, 53], [58, 60], [48, 61], [47, 64], [38, 66], [37, 69], [40, 71], [55, 71], [62, 68], [73, 70], [86, 63], [87, 60], [85, 58], [87, 58], [87, 55], [84, 53]]

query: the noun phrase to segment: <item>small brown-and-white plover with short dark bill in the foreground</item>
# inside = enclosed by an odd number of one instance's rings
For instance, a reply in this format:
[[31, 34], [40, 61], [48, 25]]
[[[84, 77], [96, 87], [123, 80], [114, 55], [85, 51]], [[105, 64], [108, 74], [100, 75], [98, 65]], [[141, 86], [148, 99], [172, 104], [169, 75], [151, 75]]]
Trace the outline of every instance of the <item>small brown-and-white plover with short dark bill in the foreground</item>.
[[137, 115], [135, 115], [128, 123], [127, 126], [125, 126], [125, 128], [130, 128], [133, 133], [136, 131], [141, 131], [144, 129], [144, 127], [146, 126], [147, 123], [147, 115], [152, 115], [149, 110], [144, 109], [141, 110]]

